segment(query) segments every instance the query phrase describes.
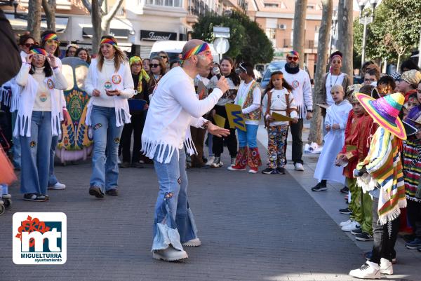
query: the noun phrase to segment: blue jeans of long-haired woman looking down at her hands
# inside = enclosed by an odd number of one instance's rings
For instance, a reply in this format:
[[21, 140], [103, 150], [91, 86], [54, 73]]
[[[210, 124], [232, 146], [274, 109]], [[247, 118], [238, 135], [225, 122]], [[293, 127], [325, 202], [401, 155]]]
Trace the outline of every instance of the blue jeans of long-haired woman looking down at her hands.
[[[123, 126], [116, 127], [114, 107], [93, 106], [91, 113], [93, 129], [93, 156], [90, 186], [99, 187], [103, 193], [116, 189], [119, 180], [117, 163]], [[107, 151], [107, 155], [105, 154]]]

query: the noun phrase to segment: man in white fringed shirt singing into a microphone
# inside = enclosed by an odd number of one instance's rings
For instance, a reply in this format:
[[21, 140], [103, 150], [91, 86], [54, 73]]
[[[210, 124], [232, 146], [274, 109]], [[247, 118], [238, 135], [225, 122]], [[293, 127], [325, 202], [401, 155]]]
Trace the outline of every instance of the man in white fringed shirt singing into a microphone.
[[221, 77], [213, 92], [199, 100], [193, 79], [212, 67], [208, 43], [190, 40], [182, 49], [182, 67], [168, 71], [154, 90], [142, 134], [142, 151], [154, 160], [159, 182], [155, 205], [154, 259], [178, 261], [187, 259], [183, 246], [200, 246], [193, 214], [187, 202], [187, 174], [185, 148], [195, 152], [189, 126], [203, 128], [218, 137], [229, 130], [213, 125], [202, 118], [229, 89]]

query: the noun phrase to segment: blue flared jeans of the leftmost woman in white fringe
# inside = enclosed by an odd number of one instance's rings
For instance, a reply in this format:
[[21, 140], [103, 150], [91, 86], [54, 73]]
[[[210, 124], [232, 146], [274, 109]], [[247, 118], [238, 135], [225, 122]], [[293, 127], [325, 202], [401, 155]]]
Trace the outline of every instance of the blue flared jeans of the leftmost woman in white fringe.
[[47, 194], [51, 134], [51, 112], [32, 111], [31, 137], [19, 136], [21, 193]]

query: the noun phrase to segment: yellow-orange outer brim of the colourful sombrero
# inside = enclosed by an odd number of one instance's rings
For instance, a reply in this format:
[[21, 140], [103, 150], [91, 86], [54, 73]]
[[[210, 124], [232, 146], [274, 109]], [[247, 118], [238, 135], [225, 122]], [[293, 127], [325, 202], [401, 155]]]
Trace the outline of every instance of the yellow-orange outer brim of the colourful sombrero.
[[366, 109], [367, 113], [370, 114], [371, 118], [373, 118], [375, 122], [382, 126], [382, 128], [385, 128], [385, 130], [392, 133], [392, 135], [399, 137], [399, 139], [406, 139], [406, 131], [405, 128], [403, 128], [402, 121], [399, 117], [395, 119], [394, 123], [390, 123], [380, 114], [378, 114], [373, 107], [372, 103], [375, 101], [373, 97], [365, 95], [361, 92], [357, 92], [356, 98], [359, 100], [363, 108]]

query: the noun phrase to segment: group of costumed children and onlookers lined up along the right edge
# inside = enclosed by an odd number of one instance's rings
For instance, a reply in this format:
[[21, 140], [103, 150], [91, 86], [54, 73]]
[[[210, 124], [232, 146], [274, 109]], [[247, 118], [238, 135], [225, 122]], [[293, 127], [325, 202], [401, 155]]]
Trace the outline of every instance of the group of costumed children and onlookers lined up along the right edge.
[[328, 181], [345, 185], [349, 205], [339, 212], [349, 220], [340, 227], [373, 241], [368, 261], [349, 274], [378, 279], [393, 274], [399, 231], [407, 233], [406, 248], [421, 252], [421, 72], [410, 60], [391, 76], [367, 62], [361, 81], [351, 84], [341, 65], [342, 54], [333, 53], [323, 80], [324, 144], [312, 191], [328, 190]]

